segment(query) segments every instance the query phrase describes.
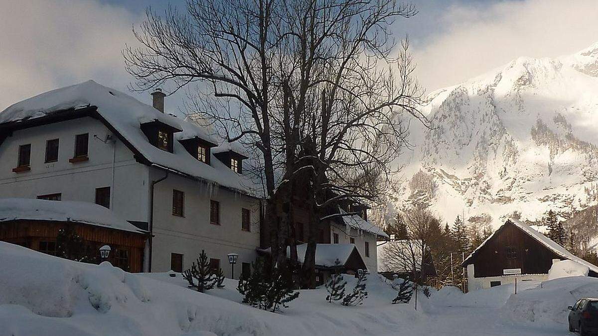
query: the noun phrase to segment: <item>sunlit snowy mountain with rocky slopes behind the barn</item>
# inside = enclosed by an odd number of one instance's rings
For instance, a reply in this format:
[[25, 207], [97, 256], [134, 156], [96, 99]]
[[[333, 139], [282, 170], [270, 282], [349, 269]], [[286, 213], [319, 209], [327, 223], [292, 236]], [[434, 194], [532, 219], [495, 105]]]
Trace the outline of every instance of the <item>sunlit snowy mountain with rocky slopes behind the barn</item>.
[[598, 43], [556, 59], [520, 57], [434, 91], [411, 123], [401, 209], [426, 201], [446, 221], [566, 218], [598, 200]]

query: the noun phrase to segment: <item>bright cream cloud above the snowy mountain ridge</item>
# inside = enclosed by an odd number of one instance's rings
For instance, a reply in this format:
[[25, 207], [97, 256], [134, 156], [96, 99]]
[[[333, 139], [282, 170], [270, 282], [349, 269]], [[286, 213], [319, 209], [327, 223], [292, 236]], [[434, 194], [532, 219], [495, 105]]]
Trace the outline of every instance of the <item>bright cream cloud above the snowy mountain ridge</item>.
[[[425, 15], [425, 10], [420, 14]], [[412, 44], [416, 75], [430, 92], [520, 56], [575, 53], [598, 42], [596, 13], [596, 0], [453, 4], [434, 22], [422, 23], [436, 29]], [[417, 29], [413, 24], [409, 28]]]

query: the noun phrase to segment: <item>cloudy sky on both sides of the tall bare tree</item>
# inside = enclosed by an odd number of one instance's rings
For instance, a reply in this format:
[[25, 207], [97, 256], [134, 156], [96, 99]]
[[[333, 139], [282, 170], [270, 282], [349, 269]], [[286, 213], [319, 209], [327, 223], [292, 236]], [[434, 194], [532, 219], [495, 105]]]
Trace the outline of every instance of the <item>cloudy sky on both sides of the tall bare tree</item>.
[[[35, 94], [93, 79], [127, 92], [121, 50], [147, 6], [184, 0], [2, 0], [0, 111]], [[414, 0], [419, 13], [399, 19], [409, 36], [417, 80], [429, 93], [520, 56], [556, 57], [598, 42], [595, 0]], [[150, 102], [149, 93], [129, 93]], [[184, 95], [167, 97], [166, 110]]]

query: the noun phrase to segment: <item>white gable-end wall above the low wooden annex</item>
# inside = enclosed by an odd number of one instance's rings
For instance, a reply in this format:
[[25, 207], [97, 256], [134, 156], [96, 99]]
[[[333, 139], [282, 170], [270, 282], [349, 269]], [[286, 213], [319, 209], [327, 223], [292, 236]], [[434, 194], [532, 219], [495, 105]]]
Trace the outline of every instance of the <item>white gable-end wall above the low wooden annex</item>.
[[[89, 161], [69, 163], [75, 136], [89, 133]], [[99, 139], [111, 135], [115, 143]], [[58, 161], [44, 163], [46, 140], [59, 139]], [[19, 146], [31, 144], [29, 172], [14, 173]], [[114, 155], [114, 183], [112, 159]], [[36, 198], [61, 193], [63, 200], [94, 202], [96, 188], [111, 187], [111, 209], [123, 219], [147, 221], [148, 167], [139, 164], [126, 146], [90, 117], [17, 130], [0, 146], [0, 197]]]

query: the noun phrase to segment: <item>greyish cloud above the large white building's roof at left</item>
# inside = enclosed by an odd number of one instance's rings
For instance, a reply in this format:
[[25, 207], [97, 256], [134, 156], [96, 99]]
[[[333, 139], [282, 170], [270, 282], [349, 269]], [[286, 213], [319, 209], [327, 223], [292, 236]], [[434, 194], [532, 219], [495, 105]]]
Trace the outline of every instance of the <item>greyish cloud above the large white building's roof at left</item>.
[[0, 111], [89, 79], [126, 90], [121, 49], [141, 13], [95, 1], [4, 0], [0, 11]]

